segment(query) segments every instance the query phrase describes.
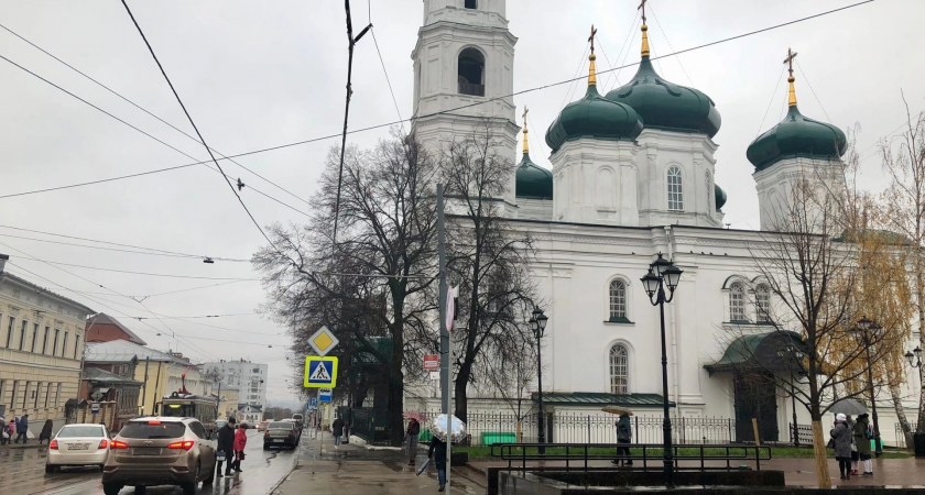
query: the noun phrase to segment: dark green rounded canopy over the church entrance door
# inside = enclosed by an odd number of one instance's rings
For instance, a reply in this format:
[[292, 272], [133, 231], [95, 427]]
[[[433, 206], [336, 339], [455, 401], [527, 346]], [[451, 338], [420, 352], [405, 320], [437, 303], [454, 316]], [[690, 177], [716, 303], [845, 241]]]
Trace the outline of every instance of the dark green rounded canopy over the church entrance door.
[[710, 376], [714, 373], [746, 370], [790, 373], [795, 366], [792, 358], [787, 355], [791, 352], [787, 348], [796, 349], [803, 355], [807, 354], [806, 344], [799, 333], [788, 330], [740, 336], [729, 343], [719, 361], [705, 364], [704, 369]]

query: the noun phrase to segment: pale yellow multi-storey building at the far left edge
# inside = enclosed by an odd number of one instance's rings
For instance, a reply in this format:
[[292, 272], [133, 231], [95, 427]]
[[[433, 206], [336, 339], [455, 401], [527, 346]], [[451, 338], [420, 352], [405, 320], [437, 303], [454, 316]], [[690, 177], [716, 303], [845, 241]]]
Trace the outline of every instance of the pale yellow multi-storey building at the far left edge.
[[64, 425], [76, 404], [84, 324], [95, 311], [6, 270], [0, 254], [0, 415], [29, 415], [37, 437], [46, 419]]

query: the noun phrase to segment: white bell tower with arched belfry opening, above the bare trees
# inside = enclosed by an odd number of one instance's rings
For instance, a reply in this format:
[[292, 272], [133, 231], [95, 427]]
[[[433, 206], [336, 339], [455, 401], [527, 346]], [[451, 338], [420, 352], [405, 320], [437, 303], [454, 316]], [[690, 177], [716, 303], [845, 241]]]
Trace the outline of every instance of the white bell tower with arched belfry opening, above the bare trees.
[[439, 150], [489, 119], [499, 141], [497, 152], [511, 163], [504, 195], [509, 210], [514, 207], [520, 127], [509, 96], [514, 90], [518, 38], [508, 31], [504, 4], [505, 0], [424, 0], [424, 24], [411, 54], [412, 132], [426, 146]]

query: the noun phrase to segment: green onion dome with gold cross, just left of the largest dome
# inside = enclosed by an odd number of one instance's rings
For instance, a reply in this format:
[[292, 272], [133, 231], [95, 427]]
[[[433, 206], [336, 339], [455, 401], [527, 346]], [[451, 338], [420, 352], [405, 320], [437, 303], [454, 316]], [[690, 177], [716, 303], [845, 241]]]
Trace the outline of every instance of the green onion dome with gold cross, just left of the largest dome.
[[581, 138], [633, 141], [642, 132], [642, 120], [635, 110], [611, 101], [598, 92], [594, 57], [595, 54], [591, 54], [588, 91], [585, 97], [565, 106], [546, 131], [546, 144], [553, 152], [566, 141]]

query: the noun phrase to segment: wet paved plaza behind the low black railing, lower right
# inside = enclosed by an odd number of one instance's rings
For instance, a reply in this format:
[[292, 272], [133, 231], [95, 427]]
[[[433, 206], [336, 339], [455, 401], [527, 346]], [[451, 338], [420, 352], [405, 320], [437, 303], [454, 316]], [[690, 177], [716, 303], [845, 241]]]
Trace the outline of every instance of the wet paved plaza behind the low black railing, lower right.
[[[636, 461], [638, 462], [638, 461]], [[594, 468], [612, 468], [607, 461], [591, 461], [588, 463]], [[689, 463], [682, 464], [682, 466]], [[707, 464], [710, 464], [709, 462]], [[715, 463], [717, 466], [725, 465], [725, 463]], [[742, 462], [754, 469], [754, 462]], [[469, 465], [479, 472], [485, 473], [486, 468], [489, 466], [507, 466], [507, 462], [497, 461], [475, 461]], [[520, 463], [514, 462], [514, 466]], [[565, 462], [546, 462], [546, 463], [527, 463], [527, 465], [547, 465], [565, 468]], [[573, 462], [572, 469], [580, 469], [583, 463], [580, 461]], [[650, 461], [649, 469], [661, 469], [662, 463], [659, 461]], [[639, 468], [639, 465], [636, 465]], [[851, 476], [851, 480], [839, 480], [838, 462], [834, 459], [828, 461], [829, 475], [831, 476], [833, 486], [906, 486], [914, 488], [925, 488], [925, 459], [874, 459], [873, 460], [873, 476]], [[787, 486], [806, 486], [816, 487], [816, 462], [813, 459], [772, 459], [770, 461], [761, 462], [762, 470], [775, 470], [784, 472], [784, 480]]]

